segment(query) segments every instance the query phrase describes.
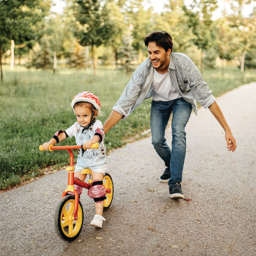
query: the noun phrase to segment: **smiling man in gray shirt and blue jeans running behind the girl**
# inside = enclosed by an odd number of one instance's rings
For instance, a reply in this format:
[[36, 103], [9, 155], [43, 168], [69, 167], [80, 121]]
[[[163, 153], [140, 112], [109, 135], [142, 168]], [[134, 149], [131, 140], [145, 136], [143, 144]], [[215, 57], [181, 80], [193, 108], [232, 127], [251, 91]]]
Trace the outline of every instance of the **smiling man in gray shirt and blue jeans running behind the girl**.
[[[236, 140], [215, 97], [192, 60], [182, 53], [172, 53], [171, 36], [165, 31], [152, 32], [144, 39], [148, 59], [134, 72], [117, 104], [104, 124], [105, 134], [113, 125], [152, 96], [150, 128], [152, 144], [166, 169], [160, 182], [168, 182], [169, 196], [183, 199], [181, 180], [186, 152], [185, 126], [197, 102], [209, 108], [225, 130], [229, 151], [236, 150]], [[197, 101], [197, 102], [196, 102]], [[172, 147], [166, 143], [165, 129], [171, 113]]]

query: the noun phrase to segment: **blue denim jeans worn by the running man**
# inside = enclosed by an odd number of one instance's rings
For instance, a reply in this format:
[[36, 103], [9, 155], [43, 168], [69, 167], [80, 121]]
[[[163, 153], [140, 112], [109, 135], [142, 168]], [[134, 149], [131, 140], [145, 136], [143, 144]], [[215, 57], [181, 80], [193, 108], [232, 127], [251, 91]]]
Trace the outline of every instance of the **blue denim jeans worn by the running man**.
[[[170, 168], [171, 178], [169, 185], [180, 183], [182, 180], [183, 166], [186, 154], [185, 126], [190, 119], [192, 106], [185, 99], [173, 101], [152, 101], [150, 128], [152, 144], [159, 157], [164, 160], [166, 167]], [[171, 113], [172, 143], [171, 149], [166, 143], [165, 129]]]

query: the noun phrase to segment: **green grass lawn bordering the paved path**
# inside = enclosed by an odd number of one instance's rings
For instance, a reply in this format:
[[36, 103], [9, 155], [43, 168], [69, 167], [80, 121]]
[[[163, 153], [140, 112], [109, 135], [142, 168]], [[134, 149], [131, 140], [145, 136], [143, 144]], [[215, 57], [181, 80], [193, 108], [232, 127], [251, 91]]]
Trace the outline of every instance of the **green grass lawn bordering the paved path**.
[[[68, 164], [69, 155], [61, 152], [40, 152], [38, 146], [48, 141], [55, 131], [66, 129], [75, 122], [71, 100], [75, 94], [90, 91], [101, 101], [101, 122], [105, 122], [115, 102], [127, 85], [131, 74], [99, 68], [92, 70], [61, 69], [50, 71], [27, 70], [16, 67], [10, 71], [3, 66], [4, 80], [0, 82], [0, 188], [20, 183], [41, 174], [47, 166]], [[221, 69], [206, 70], [206, 82], [217, 97], [244, 83], [256, 80], [255, 71], [241, 74], [229, 68], [222, 76]], [[108, 132], [107, 150], [125, 145], [129, 138], [150, 128], [150, 99], [144, 101], [128, 119], [122, 120]], [[141, 135], [143, 136], [143, 135]], [[62, 145], [74, 145], [68, 138]]]

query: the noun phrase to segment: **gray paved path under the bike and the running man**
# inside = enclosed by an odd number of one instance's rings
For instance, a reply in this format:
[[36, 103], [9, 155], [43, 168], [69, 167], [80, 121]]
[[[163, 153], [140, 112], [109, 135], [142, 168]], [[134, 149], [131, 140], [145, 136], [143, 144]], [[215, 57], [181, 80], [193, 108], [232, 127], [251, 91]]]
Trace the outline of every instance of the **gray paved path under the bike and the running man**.
[[[53, 227], [66, 171], [1, 192], [0, 255], [256, 255], [256, 83], [218, 104], [236, 152], [227, 151], [210, 111], [192, 114], [183, 176], [192, 201], [169, 198], [168, 186], [158, 181], [164, 165], [145, 138], [109, 155], [115, 194], [104, 228], [90, 227], [94, 208], [84, 193], [83, 230], [73, 243], [59, 239]], [[166, 134], [170, 142], [171, 130]]]

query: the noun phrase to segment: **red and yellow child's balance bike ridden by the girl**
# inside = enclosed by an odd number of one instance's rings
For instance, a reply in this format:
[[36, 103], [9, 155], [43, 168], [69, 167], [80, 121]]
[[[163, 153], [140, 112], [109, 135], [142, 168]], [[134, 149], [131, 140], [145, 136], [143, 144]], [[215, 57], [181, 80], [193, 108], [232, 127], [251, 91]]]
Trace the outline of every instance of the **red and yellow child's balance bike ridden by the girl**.
[[[90, 176], [87, 183], [74, 178], [72, 150], [81, 148], [83, 148], [83, 145], [49, 146], [50, 151], [68, 150], [70, 155], [70, 166], [66, 167], [66, 171], [69, 171], [68, 186], [62, 194], [62, 199], [59, 201], [59, 204], [57, 204], [54, 221], [57, 234], [65, 241], [75, 240], [83, 227], [83, 206], [80, 203], [80, 198], [74, 185], [79, 185], [87, 190], [92, 187], [92, 171], [90, 169], [83, 169], [82, 171], [83, 174], [89, 174]], [[94, 143], [91, 148], [99, 148], [99, 144]], [[43, 151], [42, 145], [40, 145], [39, 150]], [[104, 200], [104, 210], [106, 210], [111, 206], [114, 193], [113, 180], [110, 174], [106, 173], [104, 175], [103, 185], [106, 189], [106, 199]], [[68, 194], [68, 192], [73, 192], [75, 195]]]

